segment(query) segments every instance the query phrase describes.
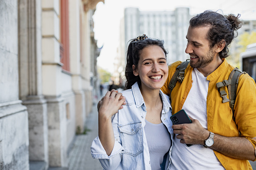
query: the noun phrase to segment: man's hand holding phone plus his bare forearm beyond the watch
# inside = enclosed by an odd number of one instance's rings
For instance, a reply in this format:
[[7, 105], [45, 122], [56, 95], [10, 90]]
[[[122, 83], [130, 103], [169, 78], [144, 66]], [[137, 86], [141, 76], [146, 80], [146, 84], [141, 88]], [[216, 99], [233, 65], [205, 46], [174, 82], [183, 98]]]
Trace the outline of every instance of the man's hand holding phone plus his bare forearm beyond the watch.
[[[205, 144], [210, 132], [203, 128], [200, 122], [191, 118], [192, 123], [173, 125], [174, 133], [178, 134], [177, 139], [186, 144]], [[254, 160], [255, 154], [253, 145], [245, 137], [227, 137], [214, 134], [214, 144], [210, 146], [226, 156], [236, 159]]]

